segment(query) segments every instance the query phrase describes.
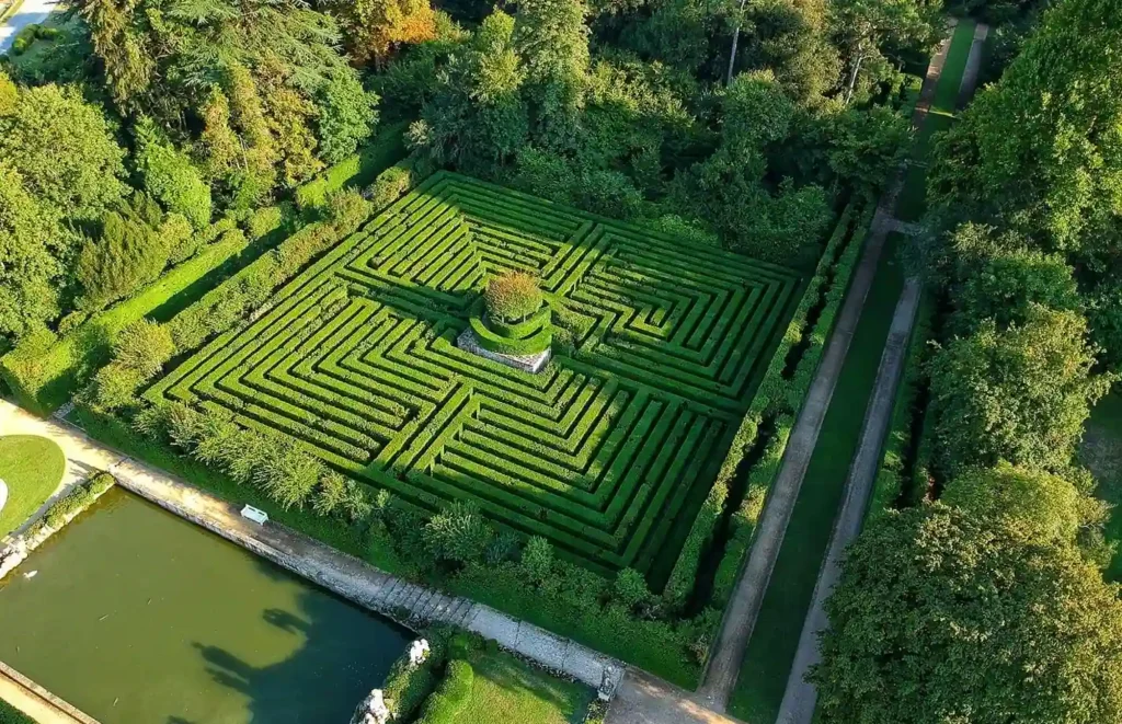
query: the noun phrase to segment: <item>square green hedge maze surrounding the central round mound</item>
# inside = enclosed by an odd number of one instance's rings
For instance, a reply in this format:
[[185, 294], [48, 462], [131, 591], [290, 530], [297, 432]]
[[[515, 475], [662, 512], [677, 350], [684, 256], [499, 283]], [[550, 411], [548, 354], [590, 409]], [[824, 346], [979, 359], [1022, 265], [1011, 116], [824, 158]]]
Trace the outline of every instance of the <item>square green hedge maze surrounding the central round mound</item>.
[[[554, 360], [456, 347], [535, 273]], [[789, 270], [440, 173], [147, 392], [276, 430], [398, 501], [475, 501], [661, 587], [801, 288]], [[660, 578], [662, 581], [660, 581]]]

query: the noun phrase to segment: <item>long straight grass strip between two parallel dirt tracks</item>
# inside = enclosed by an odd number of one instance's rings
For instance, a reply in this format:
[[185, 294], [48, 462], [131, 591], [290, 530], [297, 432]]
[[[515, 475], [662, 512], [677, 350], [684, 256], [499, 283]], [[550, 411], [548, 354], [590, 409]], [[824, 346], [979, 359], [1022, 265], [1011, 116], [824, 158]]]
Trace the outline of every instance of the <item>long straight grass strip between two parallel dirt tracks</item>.
[[[932, 133], [945, 129], [953, 118], [974, 31], [973, 21], [962, 21], [955, 28], [931, 110], [916, 139], [916, 152], [926, 154]], [[898, 206], [901, 217], [903, 211], [922, 213], [926, 177], [926, 165], [913, 164], [909, 168]], [[861, 440], [896, 301], [903, 291], [904, 275], [896, 254], [902, 240], [901, 234], [892, 233], [885, 242], [729, 700], [729, 713], [749, 724], [771, 724], [779, 714], [849, 466]]]

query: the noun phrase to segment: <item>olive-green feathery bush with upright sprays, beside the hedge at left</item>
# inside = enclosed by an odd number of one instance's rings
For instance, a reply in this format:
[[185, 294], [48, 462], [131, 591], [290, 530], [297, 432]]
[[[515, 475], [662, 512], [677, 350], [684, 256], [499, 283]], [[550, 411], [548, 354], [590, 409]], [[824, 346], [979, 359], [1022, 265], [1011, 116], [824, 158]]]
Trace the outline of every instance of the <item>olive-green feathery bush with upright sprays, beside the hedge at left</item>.
[[95, 310], [135, 294], [159, 276], [169, 250], [157, 233], [158, 208], [140, 194], [120, 208], [107, 212], [93, 238], [82, 244], [77, 280], [83, 308]]

